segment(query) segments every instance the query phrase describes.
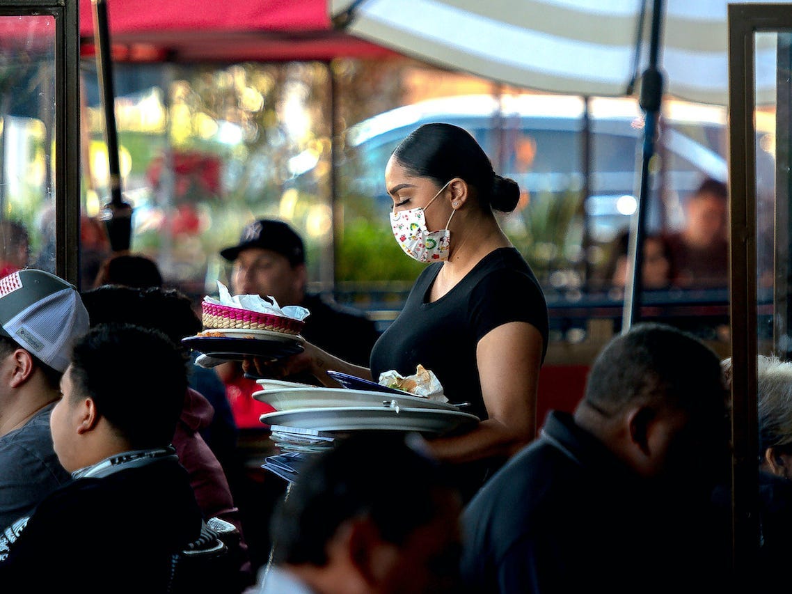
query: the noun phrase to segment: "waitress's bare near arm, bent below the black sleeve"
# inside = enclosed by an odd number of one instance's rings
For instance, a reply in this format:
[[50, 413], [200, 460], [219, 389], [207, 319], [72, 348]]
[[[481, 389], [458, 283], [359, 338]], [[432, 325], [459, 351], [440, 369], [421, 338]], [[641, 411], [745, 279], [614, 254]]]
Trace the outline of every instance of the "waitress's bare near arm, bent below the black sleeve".
[[527, 322], [508, 322], [486, 333], [476, 348], [489, 419], [461, 436], [428, 442], [449, 462], [508, 457], [534, 439], [542, 335]]

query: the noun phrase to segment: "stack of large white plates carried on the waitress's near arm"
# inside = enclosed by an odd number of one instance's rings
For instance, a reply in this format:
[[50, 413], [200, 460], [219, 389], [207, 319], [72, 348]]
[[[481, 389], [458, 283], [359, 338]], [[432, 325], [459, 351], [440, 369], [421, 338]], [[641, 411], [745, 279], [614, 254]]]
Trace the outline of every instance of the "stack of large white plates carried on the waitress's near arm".
[[479, 422], [448, 402], [377, 390], [350, 390], [259, 379], [263, 390], [253, 398], [276, 409], [261, 415], [265, 425], [301, 428], [311, 432], [360, 430], [415, 431], [442, 435], [463, 431]]

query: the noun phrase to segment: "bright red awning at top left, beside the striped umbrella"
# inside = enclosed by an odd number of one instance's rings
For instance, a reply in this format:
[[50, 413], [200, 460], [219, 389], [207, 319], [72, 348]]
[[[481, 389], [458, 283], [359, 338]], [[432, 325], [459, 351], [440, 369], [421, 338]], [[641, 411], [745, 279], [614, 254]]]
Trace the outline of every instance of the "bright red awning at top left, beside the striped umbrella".
[[[119, 61], [236, 62], [375, 58], [393, 52], [333, 30], [326, 0], [106, 0]], [[82, 53], [93, 52], [90, 0], [80, 0]]]

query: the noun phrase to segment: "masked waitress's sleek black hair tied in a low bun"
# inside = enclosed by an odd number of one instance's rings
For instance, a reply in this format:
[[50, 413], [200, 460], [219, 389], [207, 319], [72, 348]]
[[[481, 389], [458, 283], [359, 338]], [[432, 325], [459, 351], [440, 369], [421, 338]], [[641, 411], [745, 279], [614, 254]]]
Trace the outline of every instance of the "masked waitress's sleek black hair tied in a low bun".
[[412, 131], [393, 152], [410, 173], [445, 185], [454, 177], [476, 188], [482, 208], [511, 212], [520, 200], [520, 187], [493, 171], [476, 139], [459, 126], [424, 124]]

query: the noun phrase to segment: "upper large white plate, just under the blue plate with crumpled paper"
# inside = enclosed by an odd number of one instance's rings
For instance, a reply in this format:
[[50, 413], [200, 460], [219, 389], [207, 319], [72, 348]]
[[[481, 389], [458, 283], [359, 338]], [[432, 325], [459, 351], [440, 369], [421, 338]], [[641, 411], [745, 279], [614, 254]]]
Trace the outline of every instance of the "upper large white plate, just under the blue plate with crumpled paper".
[[[320, 386], [272, 388], [253, 392], [253, 398], [266, 402], [277, 410], [326, 409], [333, 406], [390, 407], [391, 402], [398, 406], [417, 409], [459, 410], [447, 402], [437, 402], [420, 396], [385, 394], [367, 390], [348, 388], [326, 388]], [[383, 404], [384, 402], [384, 404]]]

